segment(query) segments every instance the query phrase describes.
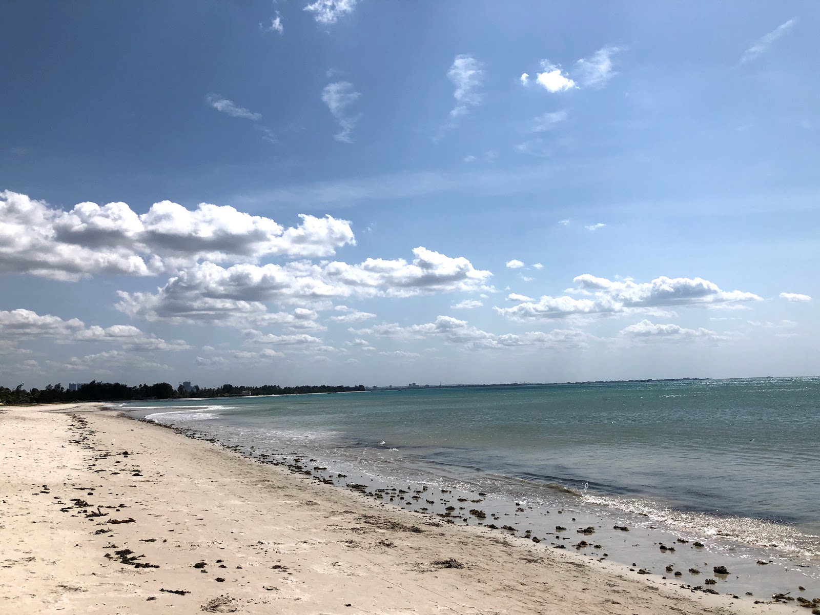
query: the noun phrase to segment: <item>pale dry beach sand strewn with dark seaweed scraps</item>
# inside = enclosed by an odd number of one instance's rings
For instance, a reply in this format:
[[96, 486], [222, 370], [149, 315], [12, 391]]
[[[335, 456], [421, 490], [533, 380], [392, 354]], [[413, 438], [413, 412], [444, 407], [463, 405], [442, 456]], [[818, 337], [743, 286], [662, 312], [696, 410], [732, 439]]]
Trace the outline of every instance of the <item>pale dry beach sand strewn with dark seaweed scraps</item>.
[[0, 407], [0, 439], [0, 613], [809, 613], [440, 524], [98, 404]]

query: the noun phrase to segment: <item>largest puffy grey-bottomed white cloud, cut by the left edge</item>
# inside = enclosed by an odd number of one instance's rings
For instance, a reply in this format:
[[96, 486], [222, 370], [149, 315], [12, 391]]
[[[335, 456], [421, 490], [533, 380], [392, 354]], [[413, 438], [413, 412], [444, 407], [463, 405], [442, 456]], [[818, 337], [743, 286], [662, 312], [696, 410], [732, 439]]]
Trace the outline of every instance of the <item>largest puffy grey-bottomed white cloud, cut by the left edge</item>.
[[154, 276], [198, 260], [257, 262], [266, 256], [327, 257], [355, 244], [350, 222], [301, 215], [285, 228], [230, 206], [78, 203], [66, 212], [25, 194], [0, 192], [0, 273], [57, 280], [93, 274]]

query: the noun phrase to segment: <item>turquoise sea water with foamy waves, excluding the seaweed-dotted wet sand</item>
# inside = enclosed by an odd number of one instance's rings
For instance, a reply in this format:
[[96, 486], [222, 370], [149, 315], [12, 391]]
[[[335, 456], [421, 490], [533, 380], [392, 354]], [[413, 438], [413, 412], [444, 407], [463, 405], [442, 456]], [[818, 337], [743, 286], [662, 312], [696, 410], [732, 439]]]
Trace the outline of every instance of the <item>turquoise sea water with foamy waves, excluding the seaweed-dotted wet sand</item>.
[[310, 455], [385, 484], [484, 490], [536, 510], [572, 502], [590, 514], [640, 513], [693, 538], [820, 557], [818, 378], [129, 405], [225, 444]]

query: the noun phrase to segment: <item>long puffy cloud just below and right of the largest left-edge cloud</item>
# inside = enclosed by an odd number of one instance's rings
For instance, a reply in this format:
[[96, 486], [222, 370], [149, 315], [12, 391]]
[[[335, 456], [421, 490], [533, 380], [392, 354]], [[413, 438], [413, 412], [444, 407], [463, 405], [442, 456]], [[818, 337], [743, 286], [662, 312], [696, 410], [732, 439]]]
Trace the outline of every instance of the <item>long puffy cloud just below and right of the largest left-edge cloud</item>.
[[368, 258], [313, 264], [298, 261], [285, 265], [240, 264], [224, 268], [200, 263], [171, 277], [156, 294], [120, 291], [117, 309], [132, 317], [172, 323], [212, 321], [263, 321], [264, 302], [298, 302], [363, 297], [408, 297], [435, 292], [471, 292], [485, 289], [490, 271], [476, 270], [464, 257], [415, 248], [416, 258]]

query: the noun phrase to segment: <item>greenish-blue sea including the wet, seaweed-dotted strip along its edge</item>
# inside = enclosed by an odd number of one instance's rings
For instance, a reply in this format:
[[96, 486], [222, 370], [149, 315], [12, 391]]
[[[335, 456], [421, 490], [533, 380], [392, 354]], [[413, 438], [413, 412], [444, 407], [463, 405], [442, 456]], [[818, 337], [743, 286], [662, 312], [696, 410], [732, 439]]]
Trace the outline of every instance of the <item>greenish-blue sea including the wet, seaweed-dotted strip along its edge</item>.
[[708, 579], [739, 599], [820, 596], [820, 378], [464, 386], [122, 409], [388, 506], [496, 526], [534, 548], [571, 549], [625, 573], [695, 590]]

